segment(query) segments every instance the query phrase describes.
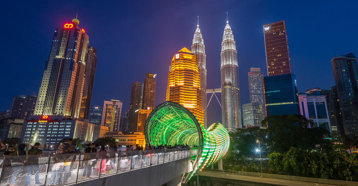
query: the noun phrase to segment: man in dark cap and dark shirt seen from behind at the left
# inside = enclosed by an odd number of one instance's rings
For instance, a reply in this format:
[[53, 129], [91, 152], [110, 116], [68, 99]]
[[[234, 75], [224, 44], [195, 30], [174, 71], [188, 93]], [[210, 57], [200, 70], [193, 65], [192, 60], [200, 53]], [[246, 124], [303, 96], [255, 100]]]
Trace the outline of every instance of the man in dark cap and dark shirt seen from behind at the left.
[[[39, 149], [40, 147], [40, 143], [36, 142], [34, 144], [34, 146], [32, 146], [32, 148], [29, 150], [28, 155], [30, 155], [28, 157], [28, 162], [30, 165], [26, 166], [26, 172], [28, 173], [28, 178], [30, 179], [30, 174], [32, 169], [34, 169], [34, 174], [35, 174], [35, 185], [43, 185], [42, 183], [40, 183], [39, 181], [39, 157], [40, 156], [36, 156], [36, 155], [42, 155], [42, 150]], [[30, 173], [30, 174], [29, 174]]]

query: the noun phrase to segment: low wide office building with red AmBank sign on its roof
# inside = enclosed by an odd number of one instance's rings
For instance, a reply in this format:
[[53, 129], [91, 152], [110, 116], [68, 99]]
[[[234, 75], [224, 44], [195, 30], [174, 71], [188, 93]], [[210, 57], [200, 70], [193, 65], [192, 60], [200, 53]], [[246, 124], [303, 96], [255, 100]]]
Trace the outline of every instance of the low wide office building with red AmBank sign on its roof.
[[24, 144], [40, 143], [40, 149], [54, 150], [64, 138], [79, 138], [84, 142], [92, 142], [93, 124], [87, 119], [76, 119], [61, 115], [33, 115], [24, 121], [21, 130], [21, 141]]

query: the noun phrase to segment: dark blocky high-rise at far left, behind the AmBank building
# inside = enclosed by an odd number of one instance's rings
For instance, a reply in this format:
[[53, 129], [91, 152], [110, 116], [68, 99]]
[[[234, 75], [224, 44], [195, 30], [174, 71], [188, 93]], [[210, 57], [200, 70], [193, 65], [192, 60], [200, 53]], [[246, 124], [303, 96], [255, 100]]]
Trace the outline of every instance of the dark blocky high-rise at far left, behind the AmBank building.
[[36, 100], [37, 94], [13, 97], [8, 117], [19, 117], [25, 120], [29, 115], [34, 115]]

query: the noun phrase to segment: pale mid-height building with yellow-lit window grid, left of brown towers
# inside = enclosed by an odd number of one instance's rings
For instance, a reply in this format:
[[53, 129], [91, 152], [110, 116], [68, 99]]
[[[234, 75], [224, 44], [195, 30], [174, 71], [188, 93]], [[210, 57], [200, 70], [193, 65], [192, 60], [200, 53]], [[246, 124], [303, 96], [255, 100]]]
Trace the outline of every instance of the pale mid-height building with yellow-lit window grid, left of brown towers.
[[108, 127], [108, 132], [120, 132], [120, 118], [122, 112], [122, 102], [109, 100], [103, 102], [101, 125]]

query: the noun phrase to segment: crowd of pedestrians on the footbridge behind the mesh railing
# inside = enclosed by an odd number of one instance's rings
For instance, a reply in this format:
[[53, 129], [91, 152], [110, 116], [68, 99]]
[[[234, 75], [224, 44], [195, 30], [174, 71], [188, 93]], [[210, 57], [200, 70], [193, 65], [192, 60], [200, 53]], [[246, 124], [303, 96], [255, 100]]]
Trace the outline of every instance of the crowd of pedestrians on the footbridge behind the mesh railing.
[[[160, 153], [155, 154], [155, 152], [151, 150], [192, 147], [177, 144], [157, 146], [146, 144], [144, 147], [136, 144], [126, 147], [117, 146], [113, 143], [106, 149], [106, 146], [101, 147], [98, 144], [92, 143], [87, 144], [84, 153], [81, 154], [81, 151], [77, 150], [76, 144], [73, 144], [72, 139], [68, 139], [67, 144], [67, 146], [59, 144], [55, 155], [52, 155], [51, 159], [48, 160], [50, 162], [47, 168], [49, 170], [47, 175], [49, 179], [48, 186], [60, 186], [72, 183], [69, 179], [71, 179], [73, 170], [78, 171], [77, 169], [83, 169], [82, 179], [91, 179], [94, 167], [97, 169], [97, 175], [111, 173], [115, 168], [114, 165], [117, 164], [118, 171], [125, 171], [130, 168], [136, 169], [140, 166], [156, 164], [154, 161], [157, 161], [158, 154], [160, 155]], [[34, 185], [44, 185], [43, 182], [45, 180], [39, 179], [39, 158], [48, 156], [42, 156], [42, 150], [39, 149], [39, 146], [40, 144], [38, 142], [35, 143], [30, 150], [28, 150], [28, 145], [26, 144], [18, 145], [17, 150], [15, 150], [13, 146], [9, 146], [8, 151], [4, 153], [6, 157], [3, 161], [3, 167], [5, 168], [3, 168], [3, 172], [0, 176], [1, 182], [3, 183], [3, 180], [6, 180], [8, 186], [30, 186], [30, 176], [33, 174]], [[128, 151], [135, 152], [128, 154]], [[80, 157], [82, 161], [78, 161]], [[118, 157], [118, 159], [116, 157]], [[46, 162], [42, 162], [40, 165], [46, 164]], [[140, 162], [142, 162], [142, 164], [140, 164]], [[22, 171], [26, 172], [25, 181], [23, 179], [24, 176], [18, 176]], [[44, 170], [42, 172], [44, 172]], [[24, 172], [22, 172], [21, 175], [24, 175]]]

